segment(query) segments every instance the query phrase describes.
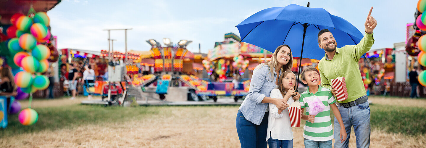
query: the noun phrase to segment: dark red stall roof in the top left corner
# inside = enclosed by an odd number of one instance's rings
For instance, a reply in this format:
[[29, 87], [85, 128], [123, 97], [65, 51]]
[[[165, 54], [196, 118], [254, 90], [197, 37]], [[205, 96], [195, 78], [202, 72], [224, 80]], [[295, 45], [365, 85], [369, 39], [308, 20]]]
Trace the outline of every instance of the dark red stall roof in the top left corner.
[[10, 18], [15, 13], [26, 15], [31, 4], [36, 12], [47, 12], [61, 0], [0, 0], [0, 24], [11, 24]]

